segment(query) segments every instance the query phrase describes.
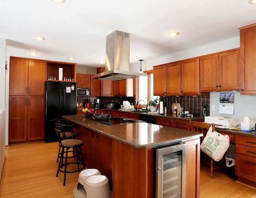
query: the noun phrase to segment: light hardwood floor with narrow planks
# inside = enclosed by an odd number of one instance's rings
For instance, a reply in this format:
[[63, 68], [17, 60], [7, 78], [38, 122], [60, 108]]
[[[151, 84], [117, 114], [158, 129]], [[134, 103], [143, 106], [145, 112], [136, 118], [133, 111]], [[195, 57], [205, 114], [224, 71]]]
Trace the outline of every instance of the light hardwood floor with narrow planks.
[[[1, 198], [73, 198], [73, 189], [79, 173], [63, 173], [56, 177], [58, 143], [31, 143], [6, 148], [6, 165], [1, 184]], [[200, 171], [200, 198], [256, 198], [256, 190], [235, 182], [225, 170], [215, 170], [209, 177], [209, 168]]]

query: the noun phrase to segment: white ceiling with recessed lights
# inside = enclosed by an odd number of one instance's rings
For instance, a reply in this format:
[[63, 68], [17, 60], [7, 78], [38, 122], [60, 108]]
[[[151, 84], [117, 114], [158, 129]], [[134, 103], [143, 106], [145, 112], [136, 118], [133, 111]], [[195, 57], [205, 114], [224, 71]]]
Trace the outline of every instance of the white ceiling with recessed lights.
[[[253, 23], [256, 5], [248, 0], [0, 0], [0, 38], [7, 39], [9, 56], [95, 68], [114, 30], [130, 33], [130, 63], [139, 64], [237, 37], [238, 28]], [[180, 34], [170, 37], [170, 31]]]

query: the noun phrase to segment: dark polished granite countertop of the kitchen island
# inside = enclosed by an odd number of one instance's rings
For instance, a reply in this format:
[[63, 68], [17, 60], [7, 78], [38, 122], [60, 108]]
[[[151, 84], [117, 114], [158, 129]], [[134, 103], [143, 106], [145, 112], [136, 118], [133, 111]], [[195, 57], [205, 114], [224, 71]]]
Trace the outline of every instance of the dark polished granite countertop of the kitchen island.
[[85, 118], [83, 115], [67, 115], [62, 117], [134, 148], [152, 148], [202, 136], [198, 132], [146, 122], [107, 125], [90, 118]]

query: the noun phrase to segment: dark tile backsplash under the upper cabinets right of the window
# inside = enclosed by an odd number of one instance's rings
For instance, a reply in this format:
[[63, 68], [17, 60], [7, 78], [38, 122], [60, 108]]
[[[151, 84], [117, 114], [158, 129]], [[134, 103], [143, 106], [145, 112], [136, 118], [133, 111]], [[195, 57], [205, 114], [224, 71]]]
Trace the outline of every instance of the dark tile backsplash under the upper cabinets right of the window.
[[172, 103], [177, 102], [195, 116], [203, 116], [202, 110], [206, 105], [206, 116], [210, 115], [210, 93], [205, 93], [204, 96], [161, 96], [160, 101], [164, 102], [168, 112], [172, 112]]

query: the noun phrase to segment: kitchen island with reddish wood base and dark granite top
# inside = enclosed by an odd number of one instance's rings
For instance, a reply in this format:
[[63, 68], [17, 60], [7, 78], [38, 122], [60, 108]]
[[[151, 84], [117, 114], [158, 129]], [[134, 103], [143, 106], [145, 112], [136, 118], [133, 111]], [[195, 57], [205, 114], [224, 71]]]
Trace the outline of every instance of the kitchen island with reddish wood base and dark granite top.
[[136, 122], [107, 125], [83, 115], [63, 116], [76, 125], [86, 168], [108, 177], [114, 198], [154, 197], [154, 146], [185, 142], [186, 197], [199, 197], [200, 136], [202, 134]]

